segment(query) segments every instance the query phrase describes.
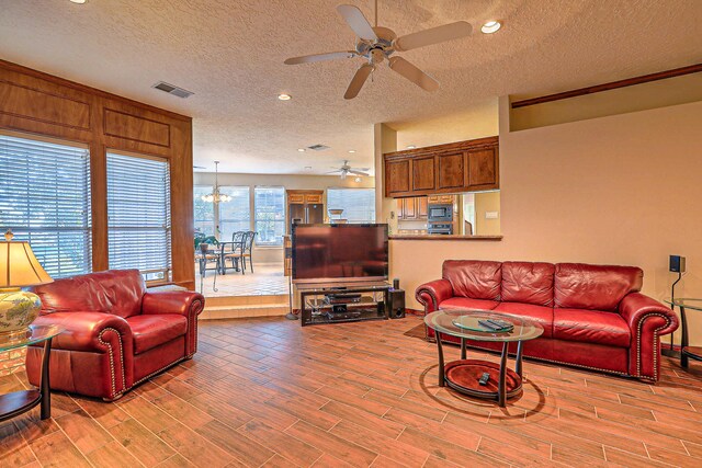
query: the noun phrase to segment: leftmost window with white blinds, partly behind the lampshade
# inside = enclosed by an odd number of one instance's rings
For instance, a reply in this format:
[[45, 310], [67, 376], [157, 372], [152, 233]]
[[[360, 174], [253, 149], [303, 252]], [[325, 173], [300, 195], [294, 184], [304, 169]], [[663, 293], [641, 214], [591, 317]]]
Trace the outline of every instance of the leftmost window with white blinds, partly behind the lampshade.
[[0, 227], [29, 241], [53, 277], [89, 273], [88, 149], [0, 135]]

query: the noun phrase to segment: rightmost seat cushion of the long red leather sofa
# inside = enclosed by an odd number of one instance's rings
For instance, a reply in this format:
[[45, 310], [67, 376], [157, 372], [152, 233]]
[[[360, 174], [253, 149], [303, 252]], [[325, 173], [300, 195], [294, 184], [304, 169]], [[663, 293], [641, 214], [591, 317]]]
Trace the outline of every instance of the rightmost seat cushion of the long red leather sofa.
[[626, 321], [602, 310], [554, 309], [553, 338], [629, 347], [632, 336]]

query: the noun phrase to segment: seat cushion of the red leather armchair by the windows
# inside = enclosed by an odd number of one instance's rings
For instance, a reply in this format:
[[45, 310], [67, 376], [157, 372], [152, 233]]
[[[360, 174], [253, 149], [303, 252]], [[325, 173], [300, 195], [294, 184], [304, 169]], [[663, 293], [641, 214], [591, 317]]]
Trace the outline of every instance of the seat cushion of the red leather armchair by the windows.
[[126, 319], [134, 338], [134, 354], [182, 336], [188, 331], [188, 319], [179, 313], [149, 313]]

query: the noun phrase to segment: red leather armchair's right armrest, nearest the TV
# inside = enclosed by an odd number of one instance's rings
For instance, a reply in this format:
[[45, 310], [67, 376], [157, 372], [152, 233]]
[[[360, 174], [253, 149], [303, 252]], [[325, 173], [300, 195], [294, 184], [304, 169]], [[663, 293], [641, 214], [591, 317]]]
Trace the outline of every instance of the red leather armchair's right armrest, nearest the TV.
[[185, 333], [185, 357], [197, 351], [197, 316], [205, 307], [202, 294], [186, 290], [161, 290], [146, 293], [141, 298], [141, 313], [178, 313], [188, 319]]

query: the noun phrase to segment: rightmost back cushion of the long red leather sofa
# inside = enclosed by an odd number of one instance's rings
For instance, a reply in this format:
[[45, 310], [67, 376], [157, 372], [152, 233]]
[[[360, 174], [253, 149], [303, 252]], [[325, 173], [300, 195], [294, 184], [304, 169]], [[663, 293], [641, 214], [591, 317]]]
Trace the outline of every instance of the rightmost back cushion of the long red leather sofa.
[[556, 307], [613, 312], [630, 293], [641, 289], [644, 272], [636, 266], [558, 263], [554, 277]]

